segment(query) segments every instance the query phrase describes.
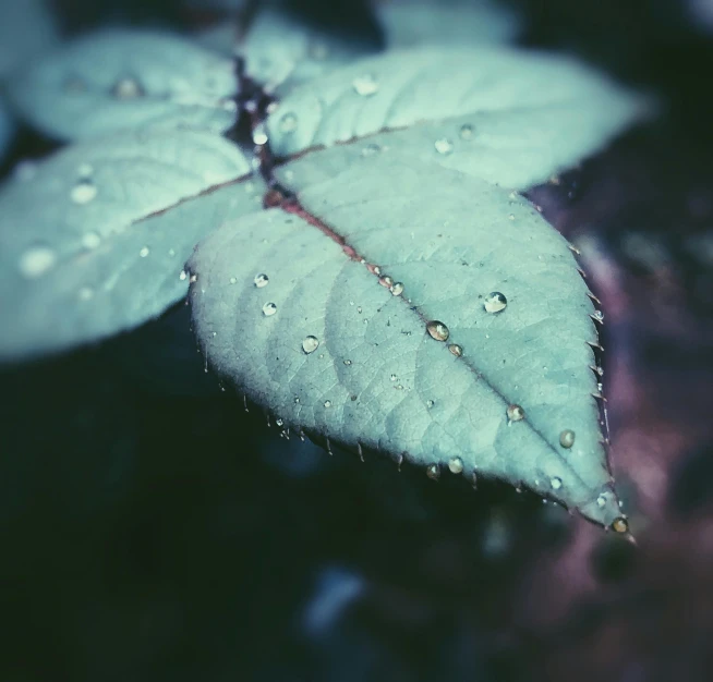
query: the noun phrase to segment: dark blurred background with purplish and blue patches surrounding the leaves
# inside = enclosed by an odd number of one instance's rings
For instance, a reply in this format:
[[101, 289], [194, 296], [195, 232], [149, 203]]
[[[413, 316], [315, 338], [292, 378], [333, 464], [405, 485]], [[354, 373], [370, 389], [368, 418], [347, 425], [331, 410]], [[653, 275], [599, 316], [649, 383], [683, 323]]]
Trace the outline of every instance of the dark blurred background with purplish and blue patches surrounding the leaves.
[[[205, 32], [261, 3], [46, 4], [19, 45], [117, 23]], [[366, 1], [286, 4], [380, 39]], [[713, 679], [713, 0], [506, 4], [519, 44], [665, 102], [529, 193], [603, 302], [638, 546], [527, 492], [281, 437], [204, 374], [179, 305], [0, 370], [0, 680]], [[2, 77], [24, 57], [0, 35]], [[55, 143], [0, 109], [1, 148], [4, 176]]]

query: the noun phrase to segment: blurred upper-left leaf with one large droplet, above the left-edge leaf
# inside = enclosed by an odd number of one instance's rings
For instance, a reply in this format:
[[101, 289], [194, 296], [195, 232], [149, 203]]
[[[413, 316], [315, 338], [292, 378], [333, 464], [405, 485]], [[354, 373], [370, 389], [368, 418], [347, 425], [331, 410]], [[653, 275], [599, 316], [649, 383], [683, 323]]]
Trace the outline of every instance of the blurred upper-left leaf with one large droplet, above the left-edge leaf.
[[96, 137], [140, 125], [216, 132], [235, 121], [231, 60], [164, 33], [92, 34], [19, 73], [10, 96], [52, 137]]

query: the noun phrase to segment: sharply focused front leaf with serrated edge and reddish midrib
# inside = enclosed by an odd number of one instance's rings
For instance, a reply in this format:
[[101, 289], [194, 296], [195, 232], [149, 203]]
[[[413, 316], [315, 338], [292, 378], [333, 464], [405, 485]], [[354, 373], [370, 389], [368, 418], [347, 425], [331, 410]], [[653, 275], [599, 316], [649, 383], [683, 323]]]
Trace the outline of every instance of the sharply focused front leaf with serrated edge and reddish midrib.
[[567, 242], [519, 195], [392, 151], [277, 172], [300, 207], [226, 224], [189, 264], [216, 372], [286, 427], [612, 524], [597, 314]]

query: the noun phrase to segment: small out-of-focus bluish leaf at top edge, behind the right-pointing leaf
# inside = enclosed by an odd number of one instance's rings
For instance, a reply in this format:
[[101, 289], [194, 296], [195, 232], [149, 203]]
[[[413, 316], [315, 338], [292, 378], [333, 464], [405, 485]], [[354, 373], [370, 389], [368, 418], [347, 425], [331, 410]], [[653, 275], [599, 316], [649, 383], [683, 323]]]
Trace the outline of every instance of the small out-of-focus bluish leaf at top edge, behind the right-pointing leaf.
[[389, 48], [508, 42], [520, 33], [516, 13], [493, 0], [391, 0], [376, 11]]

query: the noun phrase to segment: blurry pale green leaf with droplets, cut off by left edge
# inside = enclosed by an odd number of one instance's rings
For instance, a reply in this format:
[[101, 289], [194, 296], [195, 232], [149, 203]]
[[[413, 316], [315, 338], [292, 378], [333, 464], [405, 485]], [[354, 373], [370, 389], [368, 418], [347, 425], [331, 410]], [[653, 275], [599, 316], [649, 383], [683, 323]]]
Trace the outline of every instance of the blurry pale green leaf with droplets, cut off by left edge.
[[131, 133], [67, 148], [10, 181], [0, 191], [0, 360], [104, 338], [184, 296], [193, 246], [259, 205], [254, 180], [231, 184], [249, 171], [233, 145], [205, 132]]

